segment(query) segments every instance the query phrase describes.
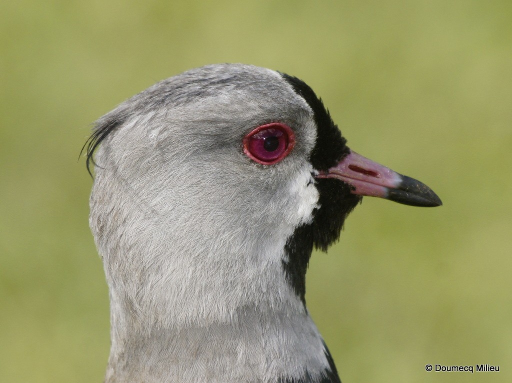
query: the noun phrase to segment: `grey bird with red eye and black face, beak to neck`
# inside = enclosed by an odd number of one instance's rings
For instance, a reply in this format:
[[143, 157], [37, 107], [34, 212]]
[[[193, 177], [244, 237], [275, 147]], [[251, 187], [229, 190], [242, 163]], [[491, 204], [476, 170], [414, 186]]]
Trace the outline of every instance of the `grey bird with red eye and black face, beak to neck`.
[[362, 196], [442, 204], [352, 151], [304, 81], [247, 64], [156, 83], [82, 151], [110, 296], [106, 383], [339, 383], [306, 306], [312, 250]]

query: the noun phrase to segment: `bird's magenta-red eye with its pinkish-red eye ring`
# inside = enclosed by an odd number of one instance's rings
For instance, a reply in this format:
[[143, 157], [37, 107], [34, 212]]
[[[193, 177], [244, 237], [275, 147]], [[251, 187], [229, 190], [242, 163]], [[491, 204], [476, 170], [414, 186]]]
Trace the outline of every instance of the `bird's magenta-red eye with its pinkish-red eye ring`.
[[244, 153], [263, 165], [278, 163], [295, 145], [295, 134], [285, 124], [273, 122], [252, 130], [243, 141]]

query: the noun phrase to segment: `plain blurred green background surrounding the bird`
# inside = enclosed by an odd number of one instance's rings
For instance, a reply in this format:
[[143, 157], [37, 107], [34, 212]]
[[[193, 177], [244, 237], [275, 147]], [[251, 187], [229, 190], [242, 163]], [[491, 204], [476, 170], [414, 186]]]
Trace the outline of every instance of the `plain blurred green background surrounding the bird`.
[[313, 255], [306, 298], [344, 383], [512, 381], [506, 0], [0, 3], [0, 381], [102, 381], [108, 291], [80, 148], [124, 99], [217, 62], [304, 79], [354, 150], [444, 202], [365, 198]]

